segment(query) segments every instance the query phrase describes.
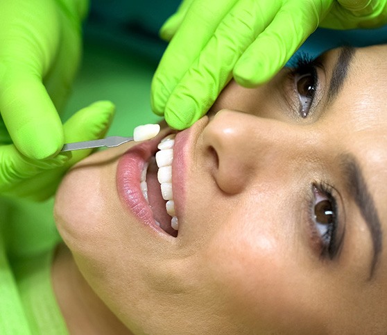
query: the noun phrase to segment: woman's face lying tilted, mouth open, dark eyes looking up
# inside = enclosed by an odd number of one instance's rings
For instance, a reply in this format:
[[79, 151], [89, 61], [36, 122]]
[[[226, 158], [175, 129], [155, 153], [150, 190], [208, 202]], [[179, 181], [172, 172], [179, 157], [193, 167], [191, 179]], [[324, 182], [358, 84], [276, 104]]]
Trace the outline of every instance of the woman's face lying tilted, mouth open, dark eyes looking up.
[[175, 138], [177, 236], [153, 159], [169, 129], [76, 165], [55, 216], [105, 304], [146, 334], [385, 332], [386, 52], [227, 85]]

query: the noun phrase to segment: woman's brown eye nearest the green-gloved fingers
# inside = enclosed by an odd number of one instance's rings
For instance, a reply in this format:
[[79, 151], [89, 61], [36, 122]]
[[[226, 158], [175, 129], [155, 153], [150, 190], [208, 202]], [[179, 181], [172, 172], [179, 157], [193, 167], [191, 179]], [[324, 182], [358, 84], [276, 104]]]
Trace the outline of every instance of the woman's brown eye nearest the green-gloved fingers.
[[317, 73], [313, 69], [310, 73], [296, 74], [294, 77], [295, 88], [300, 101], [300, 115], [308, 116], [317, 87]]

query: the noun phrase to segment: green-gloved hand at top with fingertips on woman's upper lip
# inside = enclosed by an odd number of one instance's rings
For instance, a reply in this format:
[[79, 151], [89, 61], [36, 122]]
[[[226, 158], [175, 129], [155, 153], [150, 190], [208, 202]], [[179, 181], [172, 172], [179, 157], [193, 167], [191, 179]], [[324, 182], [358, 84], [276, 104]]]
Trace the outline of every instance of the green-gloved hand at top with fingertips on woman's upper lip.
[[184, 0], [162, 27], [171, 40], [152, 82], [152, 108], [175, 129], [202, 117], [232, 76], [271, 79], [316, 30], [379, 26], [387, 0]]

